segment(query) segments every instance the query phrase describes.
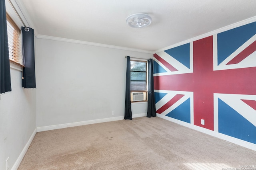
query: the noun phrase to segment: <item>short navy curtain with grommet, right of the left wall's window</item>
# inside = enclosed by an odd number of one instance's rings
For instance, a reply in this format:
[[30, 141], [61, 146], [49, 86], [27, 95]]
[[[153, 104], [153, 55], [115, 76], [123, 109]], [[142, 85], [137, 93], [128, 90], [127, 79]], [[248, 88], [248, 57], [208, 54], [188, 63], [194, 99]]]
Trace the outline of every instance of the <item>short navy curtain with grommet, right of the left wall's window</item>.
[[22, 27], [23, 80], [22, 87], [36, 88], [34, 29]]

